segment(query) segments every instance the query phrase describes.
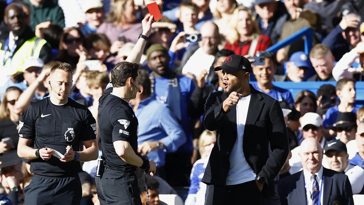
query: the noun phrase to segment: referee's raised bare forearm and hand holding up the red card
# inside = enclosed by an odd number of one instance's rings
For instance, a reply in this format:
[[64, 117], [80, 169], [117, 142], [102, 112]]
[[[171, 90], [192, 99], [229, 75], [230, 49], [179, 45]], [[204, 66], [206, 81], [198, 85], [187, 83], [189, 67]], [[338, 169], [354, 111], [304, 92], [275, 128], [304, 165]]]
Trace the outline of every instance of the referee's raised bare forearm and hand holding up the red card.
[[[142, 20], [143, 32], [142, 35], [147, 37], [150, 36], [151, 28], [153, 23], [153, 15], [146, 15], [146, 17]], [[135, 34], [139, 35], [139, 34]], [[131, 63], [139, 63], [140, 59], [142, 58], [142, 54], [145, 48], [147, 41], [143, 38], [139, 38], [133, 49], [131, 50], [130, 54], [126, 58], [127, 62]]]

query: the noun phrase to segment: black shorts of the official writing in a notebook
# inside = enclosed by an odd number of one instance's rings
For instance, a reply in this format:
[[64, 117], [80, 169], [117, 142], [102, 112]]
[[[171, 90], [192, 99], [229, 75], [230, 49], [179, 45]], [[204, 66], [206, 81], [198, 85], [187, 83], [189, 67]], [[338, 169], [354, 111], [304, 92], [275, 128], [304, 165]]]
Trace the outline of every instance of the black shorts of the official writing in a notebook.
[[74, 177], [43, 177], [33, 175], [32, 181], [24, 188], [26, 205], [79, 205], [82, 187], [78, 174]]

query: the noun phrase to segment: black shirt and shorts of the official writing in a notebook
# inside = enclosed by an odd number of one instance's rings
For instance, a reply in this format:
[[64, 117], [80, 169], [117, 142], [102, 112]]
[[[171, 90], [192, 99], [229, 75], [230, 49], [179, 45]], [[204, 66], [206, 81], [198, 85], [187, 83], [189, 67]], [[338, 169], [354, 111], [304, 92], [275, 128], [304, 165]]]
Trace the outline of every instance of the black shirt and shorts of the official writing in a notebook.
[[[68, 145], [79, 151], [81, 141], [96, 138], [96, 121], [84, 105], [70, 98], [64, 105], [54, 105], [48, 97], [32, 103], [20, 117], [19, 136], [33, 139], [34, 148], [49, 147], [65, 154]], [[34, 175], [24, 189], [26, 205], [80, 204], [79, 161], [39, 157], [32, 160], [30, 170]]]

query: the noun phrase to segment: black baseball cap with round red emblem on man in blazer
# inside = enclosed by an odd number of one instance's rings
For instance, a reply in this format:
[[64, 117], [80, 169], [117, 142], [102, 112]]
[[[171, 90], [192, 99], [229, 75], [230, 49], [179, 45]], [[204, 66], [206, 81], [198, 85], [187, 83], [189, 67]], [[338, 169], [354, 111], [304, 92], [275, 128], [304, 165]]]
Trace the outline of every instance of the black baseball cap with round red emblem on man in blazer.
[[221, 66], [215, 67], [215, 71], [224, 70], [226, 73], [236, 73], [239, 70], [252, 73], [252, 64], [242, 55], [229, 55]]

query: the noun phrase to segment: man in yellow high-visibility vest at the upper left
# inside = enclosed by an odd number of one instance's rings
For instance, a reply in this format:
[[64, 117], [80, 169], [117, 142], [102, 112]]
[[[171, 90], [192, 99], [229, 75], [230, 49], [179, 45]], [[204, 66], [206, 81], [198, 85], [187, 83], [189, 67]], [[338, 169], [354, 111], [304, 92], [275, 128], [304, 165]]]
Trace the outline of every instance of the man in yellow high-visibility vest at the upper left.
[[[23, 63], [27, 58], [41, 58], [44, 63], [51, 60], [50, 45], [34, 35], [26, 24], [26, 16], [20, 4], [12, 3], [5, 8], [4, 22], [10, 32], [0, 34], [0, 72], [3, 77], [24, 72]], [[5, 83], [6, 80], [1, 78], [0, 82]]]

